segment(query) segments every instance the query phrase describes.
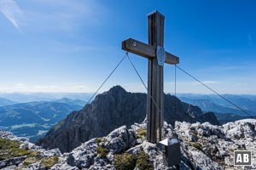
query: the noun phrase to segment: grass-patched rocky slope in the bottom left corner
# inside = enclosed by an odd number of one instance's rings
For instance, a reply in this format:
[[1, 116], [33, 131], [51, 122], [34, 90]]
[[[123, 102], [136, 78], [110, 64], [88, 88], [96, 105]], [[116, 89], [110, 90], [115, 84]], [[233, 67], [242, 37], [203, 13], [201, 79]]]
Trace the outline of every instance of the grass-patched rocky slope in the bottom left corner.
[[48, 169], [59, 156], [61, 151], [57, 148], [44, 150], [24, 137], [0, 130], [0, 169]]

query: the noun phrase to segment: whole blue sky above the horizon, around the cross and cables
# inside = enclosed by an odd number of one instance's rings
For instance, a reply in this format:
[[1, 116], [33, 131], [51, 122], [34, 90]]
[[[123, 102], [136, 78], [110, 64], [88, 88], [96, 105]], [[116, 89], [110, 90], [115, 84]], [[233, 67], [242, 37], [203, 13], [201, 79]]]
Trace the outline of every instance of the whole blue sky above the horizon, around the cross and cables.
[[[256, 94], [256, 2], [0, 0], [0, 92], [93, 92], [125, 55], [148, 42], [147, 14], [166, 16], [165, 48], [220, 94]], [[130, 54], [147, 82], [147, 59]], [[165, 92], [174, 66], [165, 65]], [[127, 59], [102, 91], [146, 92]], [[177, 71], [177, 93], [211, 94]]]

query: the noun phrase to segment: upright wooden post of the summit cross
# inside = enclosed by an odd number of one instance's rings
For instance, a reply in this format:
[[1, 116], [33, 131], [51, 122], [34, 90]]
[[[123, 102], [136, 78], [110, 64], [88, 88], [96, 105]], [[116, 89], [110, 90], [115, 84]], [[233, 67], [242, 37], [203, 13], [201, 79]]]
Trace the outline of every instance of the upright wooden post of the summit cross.
[[[164, 20], [164, 15], [158, 11], [148, 14], [149, 45], [163, 47]], [[158, 65], [157, 58], [148, 59], [147, 139], [148, 142], [154, 144], [160, 142], [162, 137], [164, 115], [163, 82], [163, 66]]]

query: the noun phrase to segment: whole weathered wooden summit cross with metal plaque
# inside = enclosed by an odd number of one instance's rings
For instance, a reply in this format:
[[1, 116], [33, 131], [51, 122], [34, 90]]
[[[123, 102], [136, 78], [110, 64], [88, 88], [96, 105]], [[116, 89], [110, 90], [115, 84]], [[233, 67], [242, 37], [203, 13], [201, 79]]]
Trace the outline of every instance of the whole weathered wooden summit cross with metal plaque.
[[164, 66], [160, 64], [160, 58], [162, 63], [179, 63], [179, 58], [164, 51], [164, 20], [165, 16], [158, 11], [148, 14], [148, 44], [131, 38], [122, 42], [125, 51], [148, 59], [147, 140], [154, 144], [162, 139], [164, 124]]

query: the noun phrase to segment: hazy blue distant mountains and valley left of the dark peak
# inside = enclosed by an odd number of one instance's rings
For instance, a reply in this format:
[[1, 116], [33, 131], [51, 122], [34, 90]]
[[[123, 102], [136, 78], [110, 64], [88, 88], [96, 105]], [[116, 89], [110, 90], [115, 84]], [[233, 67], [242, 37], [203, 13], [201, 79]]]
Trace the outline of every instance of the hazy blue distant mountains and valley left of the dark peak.
[[0, 128], [35, 141], [44, 136], [56, 122], [85, 105], [79, 99], [29, 102], [0, 107]]

